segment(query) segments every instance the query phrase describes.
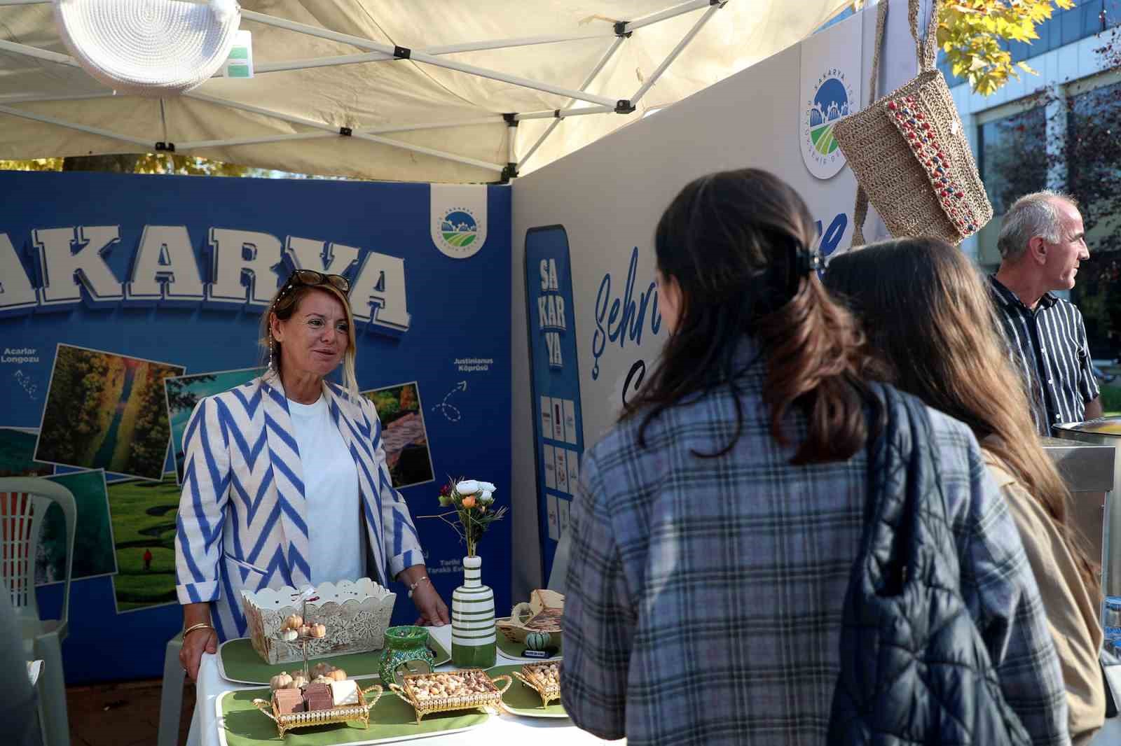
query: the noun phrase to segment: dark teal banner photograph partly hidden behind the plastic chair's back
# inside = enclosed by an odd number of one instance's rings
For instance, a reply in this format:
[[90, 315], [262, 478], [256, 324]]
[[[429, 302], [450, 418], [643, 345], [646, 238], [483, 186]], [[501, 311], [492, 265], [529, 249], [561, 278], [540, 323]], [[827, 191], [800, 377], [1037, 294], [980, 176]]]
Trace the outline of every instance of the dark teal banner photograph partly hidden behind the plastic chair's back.
[[[96, 578], [117, 572], [113, 528], [109, 515], [109, 493], [104, 469], [74, 472], [46, 477], [74, 495], [77, 521], [71, 580]], [[66, 579], [66, 517], [53, 505], [43, 519], [35, 557], [35, 585]]]

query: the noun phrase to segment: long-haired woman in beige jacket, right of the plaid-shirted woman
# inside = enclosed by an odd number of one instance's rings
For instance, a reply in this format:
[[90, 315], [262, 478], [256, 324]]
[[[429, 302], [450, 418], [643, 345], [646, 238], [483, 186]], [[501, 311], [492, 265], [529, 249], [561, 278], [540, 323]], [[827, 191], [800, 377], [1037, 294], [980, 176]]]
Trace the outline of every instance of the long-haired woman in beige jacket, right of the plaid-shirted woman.
[[1105, 718], [1101, 588], [1068, 525], [1069, 493], [1036, 438], [984, 281], [949, 244], [905, 239], [834, 259], [826, 285], [864, 321], [895, 385], [965, 422], [981, 441], [1047, 609], [1071, 737], [1088, 743]]

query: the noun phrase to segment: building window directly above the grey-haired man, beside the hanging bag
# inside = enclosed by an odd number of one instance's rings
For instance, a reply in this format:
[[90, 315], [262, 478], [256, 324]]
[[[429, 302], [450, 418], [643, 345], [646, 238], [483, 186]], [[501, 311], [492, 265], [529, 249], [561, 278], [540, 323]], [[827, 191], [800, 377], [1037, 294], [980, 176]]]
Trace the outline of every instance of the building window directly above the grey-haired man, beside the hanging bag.
[[1047, 186], [1047, 121], [1043, 108], [985, 122], [979, 128], [981, 180], [1002, 215], [1017, 197]]

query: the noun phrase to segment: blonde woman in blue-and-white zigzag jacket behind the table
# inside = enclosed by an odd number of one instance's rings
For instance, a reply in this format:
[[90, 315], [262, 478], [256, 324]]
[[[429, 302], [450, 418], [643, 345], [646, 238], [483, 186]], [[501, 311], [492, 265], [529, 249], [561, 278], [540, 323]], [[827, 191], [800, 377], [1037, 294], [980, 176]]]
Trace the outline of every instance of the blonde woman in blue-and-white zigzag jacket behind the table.
[[[175, 535], [179, 661], [247, 634], [242, 588], [399, 580], [428, 624], [447, 607], [428, 581], [381, 422], [354, 376], [354, 318], [339, 274], [296, 270], [261, 318], [265, 374], [195, 407], [184, 432]], [[326, 377], [342, 365], [342, 385]]]

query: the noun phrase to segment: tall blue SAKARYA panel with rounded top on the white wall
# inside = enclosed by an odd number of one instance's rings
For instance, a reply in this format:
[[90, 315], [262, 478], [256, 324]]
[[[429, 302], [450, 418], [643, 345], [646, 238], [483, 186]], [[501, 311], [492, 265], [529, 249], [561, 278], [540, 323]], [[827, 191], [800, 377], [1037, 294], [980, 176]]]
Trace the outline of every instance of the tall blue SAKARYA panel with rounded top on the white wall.
[[572, 299], [568, 234], [563, 225], [526, 232], [526, 306], [537, 453], [538, 529], [541, 578], [553, 570], [557, 542], [568, 516], [584, 453], [580, 407], [576, 315]]

